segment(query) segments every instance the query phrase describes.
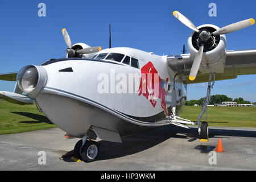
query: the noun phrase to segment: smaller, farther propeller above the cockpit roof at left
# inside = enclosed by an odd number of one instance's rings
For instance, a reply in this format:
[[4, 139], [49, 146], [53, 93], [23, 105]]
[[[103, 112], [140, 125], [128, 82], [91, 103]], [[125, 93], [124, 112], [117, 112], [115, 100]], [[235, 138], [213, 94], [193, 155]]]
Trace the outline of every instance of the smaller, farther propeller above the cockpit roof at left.
[[68, 48], [66, 49], [66, 52], [68, 53], [68, 57], [73, 57], [75, 55], [83, 55], [83, 54], [88, 54], [88, 53], [94, 53], [94, 52], [98, 52], [101, 51], [101, 47], [97, 46], [97, 47], [88, 47], [88, 48], [84, 48], [84, 49], [80, 49], [80, 50], [75, 50], [72, 48], [72, 42], [71, 42], [71, 38], [68, 35], [68, 31], [66, 30], [66, 28], [62, 29], [62, 34], [65, 40], [65, 43], [67, 44]]

